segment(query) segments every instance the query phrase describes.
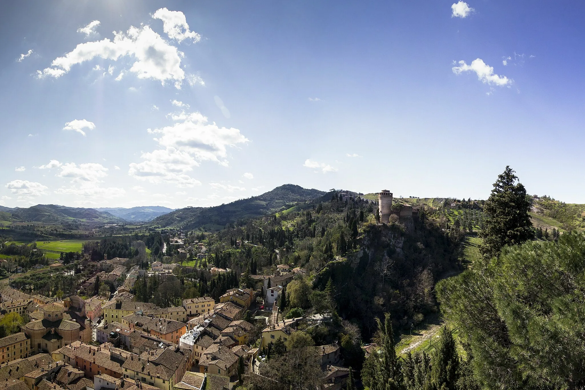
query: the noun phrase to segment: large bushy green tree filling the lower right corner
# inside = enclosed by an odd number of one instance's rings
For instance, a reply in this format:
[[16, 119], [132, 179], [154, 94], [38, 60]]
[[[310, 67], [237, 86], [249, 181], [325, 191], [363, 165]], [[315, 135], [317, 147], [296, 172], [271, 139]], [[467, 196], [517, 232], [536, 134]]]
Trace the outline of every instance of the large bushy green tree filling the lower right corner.
[[489, 389], [585, 386], [585, 235], [504, 249], [439, 282], [441, 309]]

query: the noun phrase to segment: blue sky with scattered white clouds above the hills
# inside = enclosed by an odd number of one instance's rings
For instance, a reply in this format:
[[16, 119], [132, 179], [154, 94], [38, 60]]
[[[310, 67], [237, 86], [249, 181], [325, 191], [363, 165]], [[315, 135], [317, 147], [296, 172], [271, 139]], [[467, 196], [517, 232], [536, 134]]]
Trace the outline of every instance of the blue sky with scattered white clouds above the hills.
[[2, 5], [1, 205], [487, 198], [505, 165], [585, 203], [579, 2], [121, 3]]

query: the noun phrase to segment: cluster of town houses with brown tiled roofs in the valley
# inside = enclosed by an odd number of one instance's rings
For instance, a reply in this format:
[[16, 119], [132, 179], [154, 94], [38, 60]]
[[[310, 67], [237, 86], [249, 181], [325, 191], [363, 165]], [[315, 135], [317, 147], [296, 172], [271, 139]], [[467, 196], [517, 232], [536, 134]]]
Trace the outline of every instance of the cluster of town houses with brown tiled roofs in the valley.
[[[0, 380], [18, 390], [202, 390], [235, 388], [240, 367], [259, 374], [271, 342], [286, 341], [302, 322], [323, 322], [326, 316], [282, 320], [276, 302], [300, 268], [278, 265], [276, 275], [250, 275], [263, 281], [254, 291], [234, 288], [213, 298], [183, 299], [181, 306], [160, 308], [136, 301], [130, 294], [139, 272], [129, 272], [123, 258], [99, 262], [100, 271], [81, 290], [89, 292], [97, 277], [111, 280], [117, 291], [110, 299], [78, 295], [64, 299], [0, 290], [2, 313], [27, 315], [21, 332], [0, 339]], [[166, 272], [173, 264], [153, 264]], [[176, 266], [176, 265], [175, 265]], [[171, 270], [172, 271], [172, 270]], [[224, 270], [216, 269], [215, 272]], [[248, 341], [254, 325], [243, 319], [264, 293], [264, 323], [258, 347]], [[91, 295], [91, 294], [87, 294]], [[99, 324], [98, 324], [99, 322]], [[349, 369], [340, 365], [337, 344], [314, 347], [322, 359], [325, 389], [345, 386]]]

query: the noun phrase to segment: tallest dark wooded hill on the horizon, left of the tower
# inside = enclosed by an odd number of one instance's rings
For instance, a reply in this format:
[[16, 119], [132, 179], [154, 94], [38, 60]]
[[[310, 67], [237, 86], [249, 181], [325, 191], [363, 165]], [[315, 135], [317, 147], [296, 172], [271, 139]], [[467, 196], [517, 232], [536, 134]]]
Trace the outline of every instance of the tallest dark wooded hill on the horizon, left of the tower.
[[207, 230], [223, 229], [227, 223], [242, 218], [254, 218], [290, 208], [299, 202], [313, 201], [327, 194], [318, 189], [285, 184], [259, 196], [240, 199], [214, 207], [187, 207], [155, 218], [151, 224], [158, 227]]

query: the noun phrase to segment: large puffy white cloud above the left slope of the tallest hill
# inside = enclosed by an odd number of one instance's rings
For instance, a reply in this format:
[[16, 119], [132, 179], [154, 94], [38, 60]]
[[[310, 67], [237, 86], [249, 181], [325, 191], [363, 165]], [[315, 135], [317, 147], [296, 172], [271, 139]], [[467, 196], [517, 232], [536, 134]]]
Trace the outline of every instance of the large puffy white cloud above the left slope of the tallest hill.
[[188, 173], [201, 161], [214, 161], [228, 166], [228, 147], [235, 147], [249, 140], [240, 130], [219, 127], [209, 123], [199, 112], [171, 115], [176, 122], [162, 129], [148, 129], [161, 149], [143, 153], [141, 163], [130, 164], [129, 175], [153, 183], [173, 182], [178, 187], [193, 187], [201, 182]]

